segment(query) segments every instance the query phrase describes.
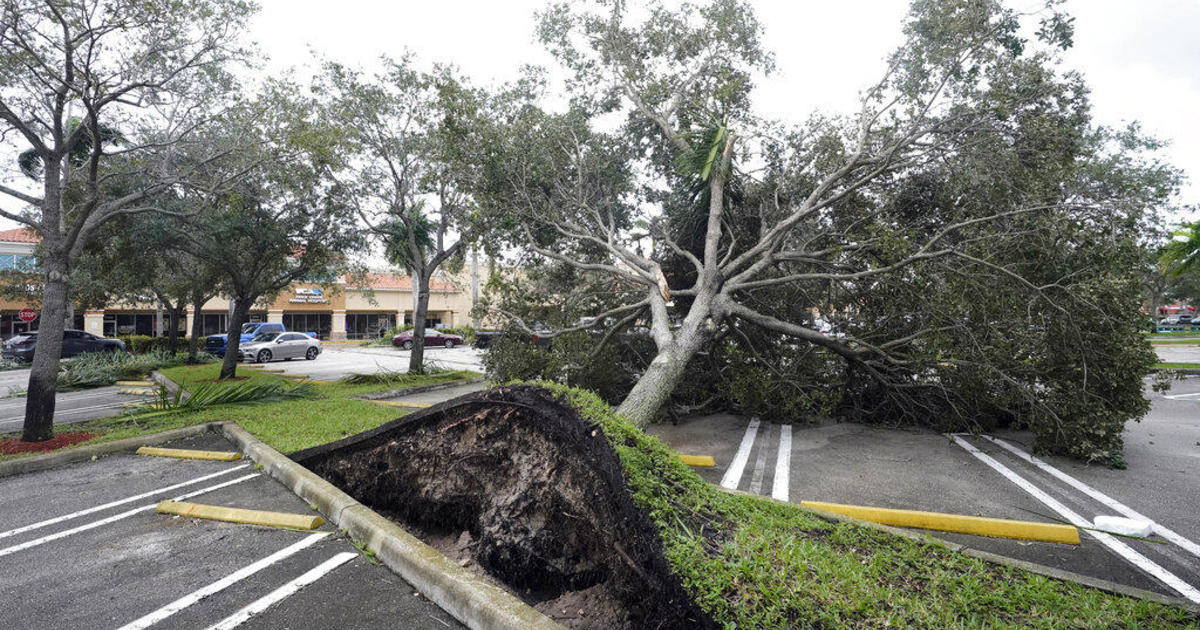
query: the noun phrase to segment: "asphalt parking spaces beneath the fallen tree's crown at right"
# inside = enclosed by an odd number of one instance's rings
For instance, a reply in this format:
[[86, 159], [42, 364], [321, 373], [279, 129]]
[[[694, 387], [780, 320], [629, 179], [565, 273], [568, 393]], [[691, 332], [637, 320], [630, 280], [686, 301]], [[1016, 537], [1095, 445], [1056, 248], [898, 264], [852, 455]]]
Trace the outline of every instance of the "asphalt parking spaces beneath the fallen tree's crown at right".
[[712, 455], [716, 467], [696, 470], [713, 484], [796, 503], [1043, 522], [1073, 518], [1042, 497], [1088, 522], [1097, 515], [1127, 516], [1122, 510], [1129, 510], [1175, 538], [1153, 536], [1164, 544], [1114, 539], [1117, 545], [1112, 545], [1081, 532], [1082, 544], [1073, 546], [932, 535], [1200, 601], [1200, 379], [1178, 382], [1165, 396], [1148, 390], [1147, 395], [1153, 403], [1150, 415], [1126, 430], [1126, 470], [1062, 457], [1040, 458], [1038, 466], [1025, 458], [1032, 438], [1020, 432], [998, 434], [1000, 443], [854, 424], [790, 426], [728, 414], [656, 426], [652, 432], [678, 452]]

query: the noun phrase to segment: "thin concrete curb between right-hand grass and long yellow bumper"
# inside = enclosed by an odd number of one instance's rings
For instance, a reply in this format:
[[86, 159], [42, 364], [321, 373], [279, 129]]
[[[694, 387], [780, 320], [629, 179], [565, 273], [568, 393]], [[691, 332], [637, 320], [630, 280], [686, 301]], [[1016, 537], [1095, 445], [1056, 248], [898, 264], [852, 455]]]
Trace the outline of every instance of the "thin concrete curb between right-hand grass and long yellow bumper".
[[884, 524], [880, 524], [880, 523], [872, 523], [870, 521], [863, 521], [862, 518], [854, 518], [853, 516], [844, 516], [844, 515], [835, 514], [835, 512], [828, 512], [828, 511], [824, 511], [824, 510], [817, 510], [817, 509], [812, 509], [812, 508], [806, 508], [806, 506], [803, 506], [803, 505], [798, 505], [796, 503], [782, 502], [782, 500], [779, 500], [779, 499], [774, 499], [772, 497], [763, 497], [761, 494], [752, 494], [750, 492], [743, 492], [740, 490], [730, 490], [730, 488], [721, 487], [721, 486], [714, 486], [714, 487], [716, 490], [720, 490], [721, 492], [726, 492], [728, 494], [740, 494], [740, 496], [744, 496], [744, 497], [754, 497], [756, 499], [763, 499], [763, 500], [769, 500], [769, 502], [779, 503], [781, 505], [791, 505], [791, 506], [793, 506], [793, 508], [796, 508], [798, 510], [804, 510], [804, 511], [806, 511], [809, 514], [812, 514], [814, 516], [816, 516], [818, 518], [822, 518], [822, 520], [826, 520], [826, 521], [833, 521], [833, 522], [839, 522], [839, 523], [850, 523], [850, 524], [856, 524], [856, 526], [859, 526], [859, 527], [865, 527], [865, 528], [869, 528], [869, 529], [877, 529], [880, 532], [887, 532], [888, 534], [893, 534], [893, 535], [896, 535], [896, 536], [900, 536], [900, 538], [906, 538], [908, 540], [914, 540], [917, 542], [925, 542], [925, 544], [929, 544], [929, 545], [937, 545], [937, 546], [944, 547], [944, 548], [947, 548], [949, 551], [955, 551], [955, 552], [962, 553], [965, 556], [970, 556], [972, 558], [977, 558], [977, 559], [980, 559], [980, 560], [984, 560], [984, 562], [989, 562], [989, 563], [992, 563], [992, 564], [998, 564], [998, 565], [1008, 566], [1008, 568], [1012, 568], [1012, 569], [1021, 569], [1021, 570], [1028, 571], [1031, 574], [1038, 574], [1040, 576], [1052, 577], [1055, 580], [1061, 580], [1063, 582], [1073, 582], [1075, 584], [1080, 584], [1080, 586], [1085, 586], [1085, 587], [1091, 587], [1091, 588], [1096, 588], [1096, 589], [1099, 589], [1099, 590], [1104, 590], [1105, 593], [1112, 593], [1114, 595], [1123, 595], [1123, 596], [1127, 596], [1127, 598], [1136, 598], [1136, 599], [1142, 599], [1142, 600], [1147, 600], [1147, 601], [1153, 601], [1156, 604], [1165, 604], [1168, 606], [1177, 606], [1180, 608], [1183, 608], [1183, 610], [1187, 610], [1187, 611], [1190, 611], [1190, 612], [1198, 612], [1198, 613], [1200, 613], [1200, 606], [1196, 606], [1195, 604], [1192, 604], [1190, 601], [1188, 601], [1188, 600], [1186, 600], [1183, 598], [1172, 598], [1172, 596], [1169, 596], [1169, 595], [1163, 595], [1160, 593], [1154, 593], [1153, 590], [1145, 590], [1145, 589], [1136, 588], [1136, 587], [1130, 587], [1130, 586], [1126, 586], [1126, 584], [1118, 584], [1116, 582], [1110, 582], [1108, 580], [1102, 580], [1099, 577], [1091, 577], [1091, 576], [1086, 576], [1086, 575], [1075, 574], [1075, 572], [1072, 572], [1072, 571], [1064, 571], [1062, 569], [1055, 569], [1054, 566], [1046, 566], [1044, 564], [1037, 564], [1037, 563], [1031, 563], [1031, 562], [1026, 562], [1026, 560], [1019, 560], [1016, 558], [1009, 558], [1008, 556], [1001, 556], [998, 553], [991, 553], [991, 552], [986, 552], [986, 551], [974, 550], [974, 548], [971, 548], [971, 547], [967, 547], [967, 546], [964, 546], [964, 545], [959, 545], [958, 542], [950, 542], [949, 540], [942, 540], [942, 539], [940, 539], [937, 536], [932, 536], [932, 535], [923, 533], [923, 532], [911, 532], [908, 529], [901, 529], [899, 527], [892, 527], [892, 526], [884, 526]]

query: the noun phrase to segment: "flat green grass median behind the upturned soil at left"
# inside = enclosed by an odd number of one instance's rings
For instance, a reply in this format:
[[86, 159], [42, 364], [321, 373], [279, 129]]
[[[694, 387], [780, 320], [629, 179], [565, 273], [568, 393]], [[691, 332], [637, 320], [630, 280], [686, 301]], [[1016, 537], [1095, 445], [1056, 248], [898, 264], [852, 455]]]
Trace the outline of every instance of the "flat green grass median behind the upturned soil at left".
[[[179, 383], [184, 389], [190, 389], [203, 380], [216, 378], [220, 370], [220, 364], [209, 364], [170, 367], [162, 370], [162, 373], [167, 378]], [[276, 374], [250, 368], [239, 368], [238, 376], [248, 377], [251, 382], [287, 380]], [[71, 425], [68, 431], [101, 433], [100, 437], [83, 443], [96, 444], [203, 422], [233, 420], [276, 450], [292, 452], [374, 428], [406, 413], [403, 409], [382, 407], [367, 401], [352, 398], [352, 396], [418, 385], [450, 383], [478, 376], [474, 372], [457, 371], [439, 374], [404, 374], [401, 380], [390, 384], [316, 384], [313, 385], [316, 396], [306, 400], [289, 400], [260, 404], [229, 404], [181, 413], [164, 414], [150, 412], [127, 414]], [[245, 380], [239, 383], [245, 383]], [[11, 458], [12, 456], [8, 457]]]

